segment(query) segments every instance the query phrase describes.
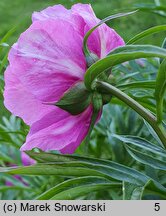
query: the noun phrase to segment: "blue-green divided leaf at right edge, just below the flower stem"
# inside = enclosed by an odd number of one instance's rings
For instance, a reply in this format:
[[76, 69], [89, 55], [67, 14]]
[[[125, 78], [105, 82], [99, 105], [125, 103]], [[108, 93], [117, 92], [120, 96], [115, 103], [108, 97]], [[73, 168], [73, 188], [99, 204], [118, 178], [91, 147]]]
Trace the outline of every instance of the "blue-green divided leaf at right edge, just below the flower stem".
[[137, 161], [160, 170], [166, 170], [166, 150], [135, 136], [113, 135], [125, 143], [129, 154]]

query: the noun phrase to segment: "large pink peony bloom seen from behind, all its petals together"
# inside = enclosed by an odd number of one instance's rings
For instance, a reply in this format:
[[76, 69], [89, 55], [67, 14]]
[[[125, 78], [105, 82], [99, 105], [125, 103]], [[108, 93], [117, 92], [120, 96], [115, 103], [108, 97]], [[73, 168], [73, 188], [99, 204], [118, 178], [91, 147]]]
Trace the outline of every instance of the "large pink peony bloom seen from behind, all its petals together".
[[[4, 103], [31, 127], [22, 151], [38, 147], [73, 153], [88, 133], [92, 105], [71, 115], [46, 103], [57, 102], [83, 81], [87, 69], [83, 38], [100, 20], [90, 5], [76, 4], [70, 10], [56, 5], [35, 12], [32, 21], [10, 50]], [[122, 45], [123, 39], [106, 24], [88, 40], [89, 50], [99, 58]]]

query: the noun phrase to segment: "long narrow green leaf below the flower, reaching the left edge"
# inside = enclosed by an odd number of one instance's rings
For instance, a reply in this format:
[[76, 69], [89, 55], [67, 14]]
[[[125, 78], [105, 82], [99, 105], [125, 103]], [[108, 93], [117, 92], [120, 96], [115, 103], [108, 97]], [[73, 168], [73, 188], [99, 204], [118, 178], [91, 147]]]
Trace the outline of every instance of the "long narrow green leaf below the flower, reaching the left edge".
[[126, 180], [135, 184], [142, 184], [147, 178], [139, 172], [119, 164], [113, 164], [114, 167], [91, 164], [87, 162], [56, 162], [36, 164], [29, 167], [0, 168], [0, 172], [9, 174], [25, 175], [56, 175], [63, 177], [81, 177], [81, 176], [100, 176], [112, 181]]

